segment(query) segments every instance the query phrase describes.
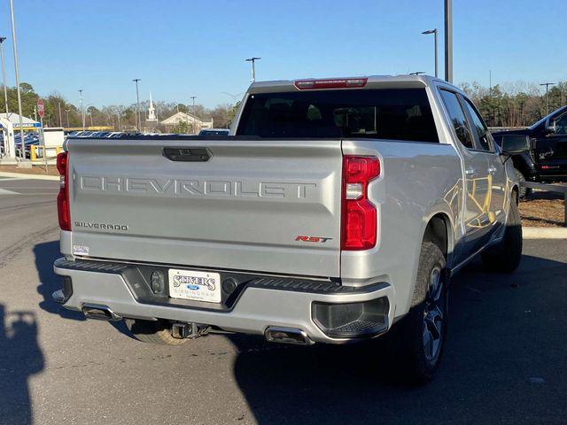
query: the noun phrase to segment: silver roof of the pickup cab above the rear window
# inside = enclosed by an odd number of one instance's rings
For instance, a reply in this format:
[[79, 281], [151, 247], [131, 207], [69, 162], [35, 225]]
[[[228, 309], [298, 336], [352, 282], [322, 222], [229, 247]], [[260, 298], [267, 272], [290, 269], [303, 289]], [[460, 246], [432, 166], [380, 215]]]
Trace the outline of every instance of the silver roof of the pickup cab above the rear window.
[[[284, 91], [296, 91], [297, 81], [355, 81], [355, 80], [365, 80], [363, 87], [357, 87], [357, 89], [381, 89], [384, 87], [392, 86], [398, 88], [416, 88], [416, 87], [427, 87], [431, 86], [433, 82], [440, 82], [447, 84], [447, 86], [452, 86], [447, 81], [441, 80], [439, 78], [433, 77], [431, 75], [358, 75], [350, 77], [325, 77], [325, 78], [308, 78], [308, 79], [298, 79], [298, 80], [275, 80], [275, 81], [255, 81], [252, 82], [248, 89], [248, 93], [270, 93], [270, 92], [284, 92]], [[454, 86], [452, 86], [454, 87]], [[336, 88], [334, 88], [336, 89]], [[454, 87], [454, 89], [459, 90]], [[459, 90], [460, 91], [460, 90]]]

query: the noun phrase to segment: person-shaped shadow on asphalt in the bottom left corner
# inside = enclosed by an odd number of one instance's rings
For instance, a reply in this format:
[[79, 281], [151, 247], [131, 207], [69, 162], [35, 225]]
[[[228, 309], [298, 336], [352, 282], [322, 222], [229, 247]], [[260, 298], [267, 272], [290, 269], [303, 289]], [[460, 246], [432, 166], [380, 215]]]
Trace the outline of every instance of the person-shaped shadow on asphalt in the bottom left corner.
[[0, 305], [0, 424], [33, 422], [28, 379], [43, 370], [35, 313], [6, 313]]

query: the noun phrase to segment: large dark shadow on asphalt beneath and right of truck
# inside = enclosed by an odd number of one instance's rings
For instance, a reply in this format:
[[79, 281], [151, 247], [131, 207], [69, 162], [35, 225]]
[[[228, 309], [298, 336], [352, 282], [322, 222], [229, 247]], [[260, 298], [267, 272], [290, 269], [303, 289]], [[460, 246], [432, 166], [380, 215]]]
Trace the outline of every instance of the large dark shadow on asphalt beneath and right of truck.
[[378, 340], [306, 348], [229, 336], [234, 374], [261, 424], [560, 423], [564, 407], [549, 406], [567, 390], [554, 379], [564, 375], [565, 285], [567, 264], [530, 256], [515, 274], [473, 264], [455, 276], [443, 363], [421, 387], [400, 383]]

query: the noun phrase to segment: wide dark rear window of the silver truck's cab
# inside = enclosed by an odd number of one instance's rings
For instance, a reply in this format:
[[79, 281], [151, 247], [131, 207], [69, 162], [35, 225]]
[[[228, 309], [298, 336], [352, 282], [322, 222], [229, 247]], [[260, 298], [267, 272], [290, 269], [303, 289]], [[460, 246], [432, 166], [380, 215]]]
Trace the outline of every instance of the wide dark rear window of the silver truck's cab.
[[306, 90], [251, 95], [237, 135], [439, 143], [425, 89]]

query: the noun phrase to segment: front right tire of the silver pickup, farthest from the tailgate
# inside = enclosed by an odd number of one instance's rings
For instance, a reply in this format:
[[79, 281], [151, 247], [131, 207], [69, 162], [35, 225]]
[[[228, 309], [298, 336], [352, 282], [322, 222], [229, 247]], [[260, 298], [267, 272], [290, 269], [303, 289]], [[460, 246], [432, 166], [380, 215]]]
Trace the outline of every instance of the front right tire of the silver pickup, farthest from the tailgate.
[[497, 273], [512, 273], [522, 259], [522, 220], [516, 199], [510, 199], [508, 221], [501, 243], [482, 253], [485, 268]]

